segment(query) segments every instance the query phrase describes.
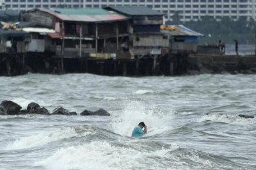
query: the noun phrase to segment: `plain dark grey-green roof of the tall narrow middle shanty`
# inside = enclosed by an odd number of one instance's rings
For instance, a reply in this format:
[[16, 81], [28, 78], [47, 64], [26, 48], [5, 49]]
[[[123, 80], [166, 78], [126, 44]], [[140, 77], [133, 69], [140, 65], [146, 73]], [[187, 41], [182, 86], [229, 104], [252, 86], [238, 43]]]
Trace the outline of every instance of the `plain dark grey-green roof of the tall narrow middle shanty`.
[[145, 6], [108, 6], [107, 9], [112, 9], [125, 15], [164, 15]]

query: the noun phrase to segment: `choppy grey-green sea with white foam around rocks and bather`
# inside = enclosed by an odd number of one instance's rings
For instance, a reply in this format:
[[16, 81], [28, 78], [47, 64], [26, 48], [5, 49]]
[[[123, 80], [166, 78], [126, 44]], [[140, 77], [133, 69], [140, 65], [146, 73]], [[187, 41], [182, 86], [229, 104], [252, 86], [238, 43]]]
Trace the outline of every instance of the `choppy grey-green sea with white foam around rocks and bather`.
[[[111, 116], [0, 116], [0, 169], [256, 169], [256, 75], [0, 77], [0, 100]], [[0, 102], [1, 102], [0, 101]], [[148, 133], [132, 139], [144, 121]]]

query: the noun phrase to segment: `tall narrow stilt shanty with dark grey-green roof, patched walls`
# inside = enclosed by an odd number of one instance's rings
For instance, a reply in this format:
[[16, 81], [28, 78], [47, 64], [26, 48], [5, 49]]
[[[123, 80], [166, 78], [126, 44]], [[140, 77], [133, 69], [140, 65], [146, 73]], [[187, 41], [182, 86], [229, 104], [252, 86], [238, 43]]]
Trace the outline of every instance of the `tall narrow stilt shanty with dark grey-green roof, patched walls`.
[[154, 59], [155, 72], [157, 59], [168, 52], [169, 40], [160, 31], [163, 24], [163, 13], [144, 6], [108, 6], [106, 9], [128, 16], [129, 37], [123, 47], [128, 48], [131, 56], [136, 58], [136, 70], [139, 69], [141, 58]]

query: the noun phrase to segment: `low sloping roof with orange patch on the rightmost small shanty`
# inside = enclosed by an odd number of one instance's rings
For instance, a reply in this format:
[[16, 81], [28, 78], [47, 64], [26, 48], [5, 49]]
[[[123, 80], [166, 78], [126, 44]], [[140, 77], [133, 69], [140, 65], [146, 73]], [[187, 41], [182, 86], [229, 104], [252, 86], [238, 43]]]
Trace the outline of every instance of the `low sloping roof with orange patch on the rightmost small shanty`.
[[185, 27], [183, 25], [172, 26], [172, 27], [174, 27], [173, 30], [161, 29], [161, 33], [164, 33], [170, 36], [204, 36], [201, 33], [197, 33], [196, 31], [193, 31], [192, 29], [189, 29], [188, 27]]

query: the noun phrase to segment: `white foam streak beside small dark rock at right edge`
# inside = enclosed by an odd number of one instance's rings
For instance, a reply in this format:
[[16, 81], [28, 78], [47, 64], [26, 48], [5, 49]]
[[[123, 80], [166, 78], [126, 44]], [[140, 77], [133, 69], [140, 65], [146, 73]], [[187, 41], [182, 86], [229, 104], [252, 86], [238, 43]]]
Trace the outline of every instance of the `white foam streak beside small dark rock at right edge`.
[[216, 121], [216, 122], [223, 122], [223, 123], [228, 123], [228, 124], [237, 124], [237, 125], [248, 125], [248, 124], [253, 124], [256, 123], [255, 119], [245, 119], [241, 118], [239, 116], [233, 116], [233, 115], [227, 115], [227, 114], [205, 114], [200, 118], [199, 122], [202, 121]]

